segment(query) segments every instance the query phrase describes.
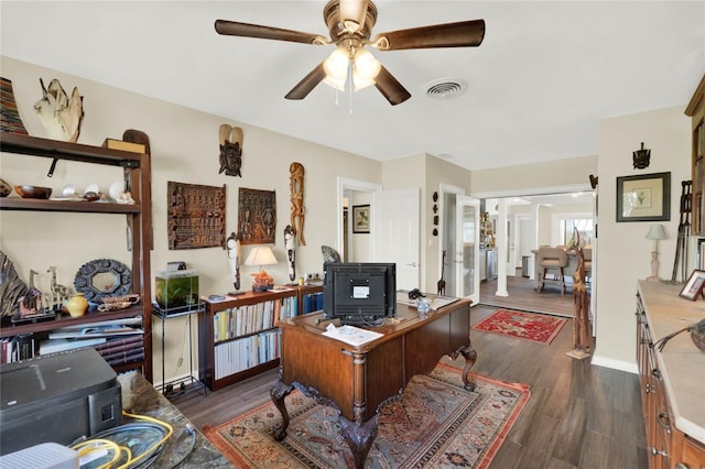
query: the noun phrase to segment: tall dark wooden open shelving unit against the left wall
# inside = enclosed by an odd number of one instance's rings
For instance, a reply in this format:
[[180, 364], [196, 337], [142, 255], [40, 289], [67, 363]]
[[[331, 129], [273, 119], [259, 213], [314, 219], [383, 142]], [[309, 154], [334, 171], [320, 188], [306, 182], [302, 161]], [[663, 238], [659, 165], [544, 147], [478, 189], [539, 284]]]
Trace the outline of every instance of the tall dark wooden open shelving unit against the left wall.
[[[35, 211], [37, 214], [74, 212], [86, 214], [115, 214], [127, 218], [128, 244], [131, 249], [131, 276], [132, 293], [141, 297], [139, 305], [111, 313], [87, 314], [80, 317], [69, 317], [59, 315], [53, 320], [33, 323], [17, 326], [6, 326], [0, 328], [1, 337], [18, 336], [21, 334], [34, 334], [41, 337], [48, 330], [59, 327], [97, 323], [108, 319], [120, 319], [142, 316], [142, 328], [144, 330], [144, 359], [132, 363], [115, 366], [117, 371], [141, 369], [144, 377], [152, 381], [152, 334], [151, 334], [151, 283], [150, 283], [150, 254], [151, 254], [151, 227], [152, 227], [152, 205], [151, 205], [151, 174], [150, 156], [120, 150], [109, 150], [100, 146], [84, 145], [79, 143], [62, 142], [56, 140], [40, 139], [35, 137], [2, 133], [0, 150], [3, 153], [14, 153], [22, 157], [47, 157], [53, 160], [67, 160], [87, 163], [86, 172], [90, 171], [90, 165], [110, 165], [122, 167], [126, 187], [131, 192], [134, 205], [120, 205], [115, 203], [86, 203], [66, 200], [43, 200], [24, 199], [17, 197], [0, 198], [0, 209]], [[99, 227], [96, 228], [99, 230]], [[31, 236], [28, 234], [28, 236]], [[65, 237], [64, 237], [65, 238]], [[56, 233], [56, 246], [61, 247], [64, 238], [62, 233]]]

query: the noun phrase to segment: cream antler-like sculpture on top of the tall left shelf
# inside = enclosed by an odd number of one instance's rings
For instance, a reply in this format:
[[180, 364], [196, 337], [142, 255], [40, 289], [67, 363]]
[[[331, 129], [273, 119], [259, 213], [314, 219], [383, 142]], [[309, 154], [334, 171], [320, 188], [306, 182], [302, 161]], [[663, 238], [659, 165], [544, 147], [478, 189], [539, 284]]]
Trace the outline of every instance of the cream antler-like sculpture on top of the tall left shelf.
[[48, 87], [44, 87], [42, 78], [40, 84], [43, 98], [34, 103], [34, 110], [48, 138], [75, 143], [84, 118], [84, 98], [78, 94], [78, 88], [74, 87], [69, 98], [56, 78], [50, 81]]

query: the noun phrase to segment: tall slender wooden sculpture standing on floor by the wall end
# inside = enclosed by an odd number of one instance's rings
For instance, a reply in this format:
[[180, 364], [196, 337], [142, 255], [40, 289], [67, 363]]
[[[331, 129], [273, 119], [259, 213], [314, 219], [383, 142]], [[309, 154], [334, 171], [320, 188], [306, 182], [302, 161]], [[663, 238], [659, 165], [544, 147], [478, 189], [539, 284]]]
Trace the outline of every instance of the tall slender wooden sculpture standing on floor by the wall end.
[[585, 257], [577, 229], [575, 243], [570, 250], [575, 251], [577, 269], [573, 273], [573, 350], [566, 355], [583, 360], [590, 355], [590, 299], [585, 284]]

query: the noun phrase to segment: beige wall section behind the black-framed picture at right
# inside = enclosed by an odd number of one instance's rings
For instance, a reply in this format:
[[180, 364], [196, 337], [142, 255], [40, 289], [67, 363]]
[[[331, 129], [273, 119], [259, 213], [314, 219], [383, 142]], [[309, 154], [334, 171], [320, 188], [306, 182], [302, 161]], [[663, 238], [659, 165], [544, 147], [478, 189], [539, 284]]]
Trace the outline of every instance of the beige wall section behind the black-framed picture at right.
[[[681, 181], [691, 179], [691, 123], [685, 105], [599, 122], [597, 348], [594, 363], [637, 370], [634, 308], [637, 281], [651, 275], [653, 242], [646, 239], [652, 222], [616, 221], [619, 176], [671, 172], [671, 219], [663, 221], [671, 238], [659, 243], [661, 279], [671, 279], [679, 226]], [[651, 164], [634, 170], [632, 152], [644, 142]], [[693, 265], [694, 252], [690, 261]], [[673, 302], [680, 298], [674, 297]]]

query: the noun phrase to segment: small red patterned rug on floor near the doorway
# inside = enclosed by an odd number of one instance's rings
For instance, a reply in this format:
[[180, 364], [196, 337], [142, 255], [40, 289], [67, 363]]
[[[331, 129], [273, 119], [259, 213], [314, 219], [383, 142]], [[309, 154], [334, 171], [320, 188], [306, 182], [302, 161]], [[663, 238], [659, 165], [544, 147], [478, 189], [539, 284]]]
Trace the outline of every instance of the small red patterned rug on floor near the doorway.
[[475, 330], [551, 343], [567, 319], [536, 313], [497, 309], [473, 326]]

